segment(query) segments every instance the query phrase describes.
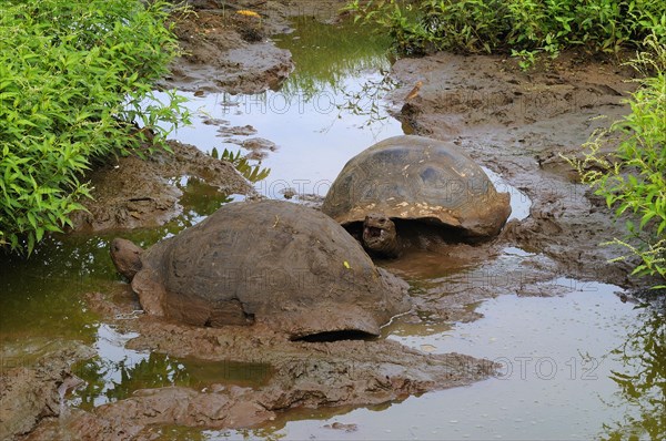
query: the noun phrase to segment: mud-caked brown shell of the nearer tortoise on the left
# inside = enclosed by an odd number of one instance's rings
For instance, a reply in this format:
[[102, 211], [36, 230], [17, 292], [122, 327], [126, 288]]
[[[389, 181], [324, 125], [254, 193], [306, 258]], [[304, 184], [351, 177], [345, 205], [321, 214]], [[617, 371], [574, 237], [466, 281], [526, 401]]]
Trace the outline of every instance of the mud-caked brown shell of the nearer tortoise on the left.
[[192, 325], [377, 335], [410, 308], [406, 284], [375, 267], [344, 228], [287, 202], [224, 205], [141, 260], [132, 288], [142, 307]]

